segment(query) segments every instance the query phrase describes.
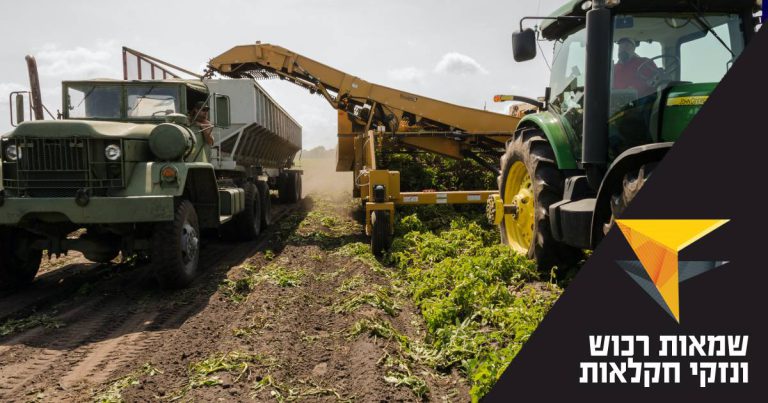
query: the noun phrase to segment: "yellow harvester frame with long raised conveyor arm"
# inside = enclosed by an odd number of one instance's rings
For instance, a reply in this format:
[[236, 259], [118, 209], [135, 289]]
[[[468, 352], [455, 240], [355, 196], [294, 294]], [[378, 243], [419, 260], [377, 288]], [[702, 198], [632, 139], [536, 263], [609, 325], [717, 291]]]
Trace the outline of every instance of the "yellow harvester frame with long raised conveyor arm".
[[352, 171], [353, 196], [365, 209], [365, 232], [381, 254], [394, 232], [397, 206], [485, 204], [494, 190], [401, 192], [400, 173], [381, 167], [376, 151], [420, 150], [469, 158], [498, 173], [496, 160], [519, 117], [438, 101], [369, 83], [288, 49], [256, 43], [213, 58], [207, 75], [280, 78], [320, 94], [338, 111], [337, 171]]

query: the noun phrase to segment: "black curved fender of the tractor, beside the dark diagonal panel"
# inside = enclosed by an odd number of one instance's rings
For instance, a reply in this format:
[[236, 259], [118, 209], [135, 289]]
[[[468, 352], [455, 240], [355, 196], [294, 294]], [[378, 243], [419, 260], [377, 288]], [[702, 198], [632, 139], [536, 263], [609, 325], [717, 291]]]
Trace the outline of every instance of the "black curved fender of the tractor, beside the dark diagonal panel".
[[649, 162], [661, 161], [674, 143], [653, 143], [632, 147], [616, 157], [608, 172], [605, 173], [600, 189], [597, 191], [595, 212], [592, 214], [592, 237], [590, 244], [595, 248], [603, 239], [603, 224], [611, 218], [610, 200], [619, 186], [622, 186], [624, 175], [632, 170], [640, 169]]

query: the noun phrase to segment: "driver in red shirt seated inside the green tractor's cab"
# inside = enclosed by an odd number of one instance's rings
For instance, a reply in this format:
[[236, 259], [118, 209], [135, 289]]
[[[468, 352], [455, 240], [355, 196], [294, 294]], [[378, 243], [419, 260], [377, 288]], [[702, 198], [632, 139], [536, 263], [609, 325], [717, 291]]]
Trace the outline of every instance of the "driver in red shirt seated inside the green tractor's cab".
[[649, 83], [660, 71], [656, 64], [647, 57], [635, 53], [637, 43], [630, 38], [621, 38], [619, 45], [619, 60], [613, 66], [613, 88], [617, 90], [633, 89], [637, 97], [642, 98], [656, 91]]

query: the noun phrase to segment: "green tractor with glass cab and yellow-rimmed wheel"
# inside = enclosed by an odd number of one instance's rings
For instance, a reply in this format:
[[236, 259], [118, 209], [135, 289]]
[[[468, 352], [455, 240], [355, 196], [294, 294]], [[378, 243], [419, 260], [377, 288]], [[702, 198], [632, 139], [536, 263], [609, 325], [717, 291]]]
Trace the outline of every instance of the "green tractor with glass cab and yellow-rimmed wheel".
[[[489, 217], [542, 270], [613, 226], [754, 35], [754, 0], [570, 1], [526, 17], [518, 62], [554, 42], [543, 102], [507, 143]], [[542, 20], [523, 29], [524, 20]]]

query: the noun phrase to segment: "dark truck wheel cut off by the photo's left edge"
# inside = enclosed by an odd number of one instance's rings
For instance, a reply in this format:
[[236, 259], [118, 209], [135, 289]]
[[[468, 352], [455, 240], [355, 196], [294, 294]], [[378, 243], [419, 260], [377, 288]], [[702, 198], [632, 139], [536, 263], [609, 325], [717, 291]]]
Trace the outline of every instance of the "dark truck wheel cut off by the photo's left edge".
[[35, 279], [43, 251], [30, 245], [27, 231], [0, 228], [0, 289], [16, 289]]

